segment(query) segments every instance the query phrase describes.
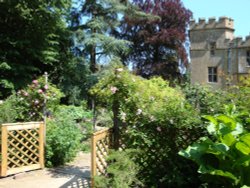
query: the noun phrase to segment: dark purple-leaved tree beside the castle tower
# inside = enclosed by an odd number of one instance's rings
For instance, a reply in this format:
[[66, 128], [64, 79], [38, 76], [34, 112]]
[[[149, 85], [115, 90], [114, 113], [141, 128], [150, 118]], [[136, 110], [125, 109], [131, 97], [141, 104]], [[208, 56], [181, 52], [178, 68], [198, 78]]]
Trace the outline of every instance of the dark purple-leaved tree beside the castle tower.
[[121, 36], [132, 42], [133, 49], [127, 62], [143, 77], [176, 79], [181, 75], [179, 60], [187, 60], [184, 42], [191, 12], [180, 0], [133, 0], [133, 4], [155, 18], [125, 15]]

